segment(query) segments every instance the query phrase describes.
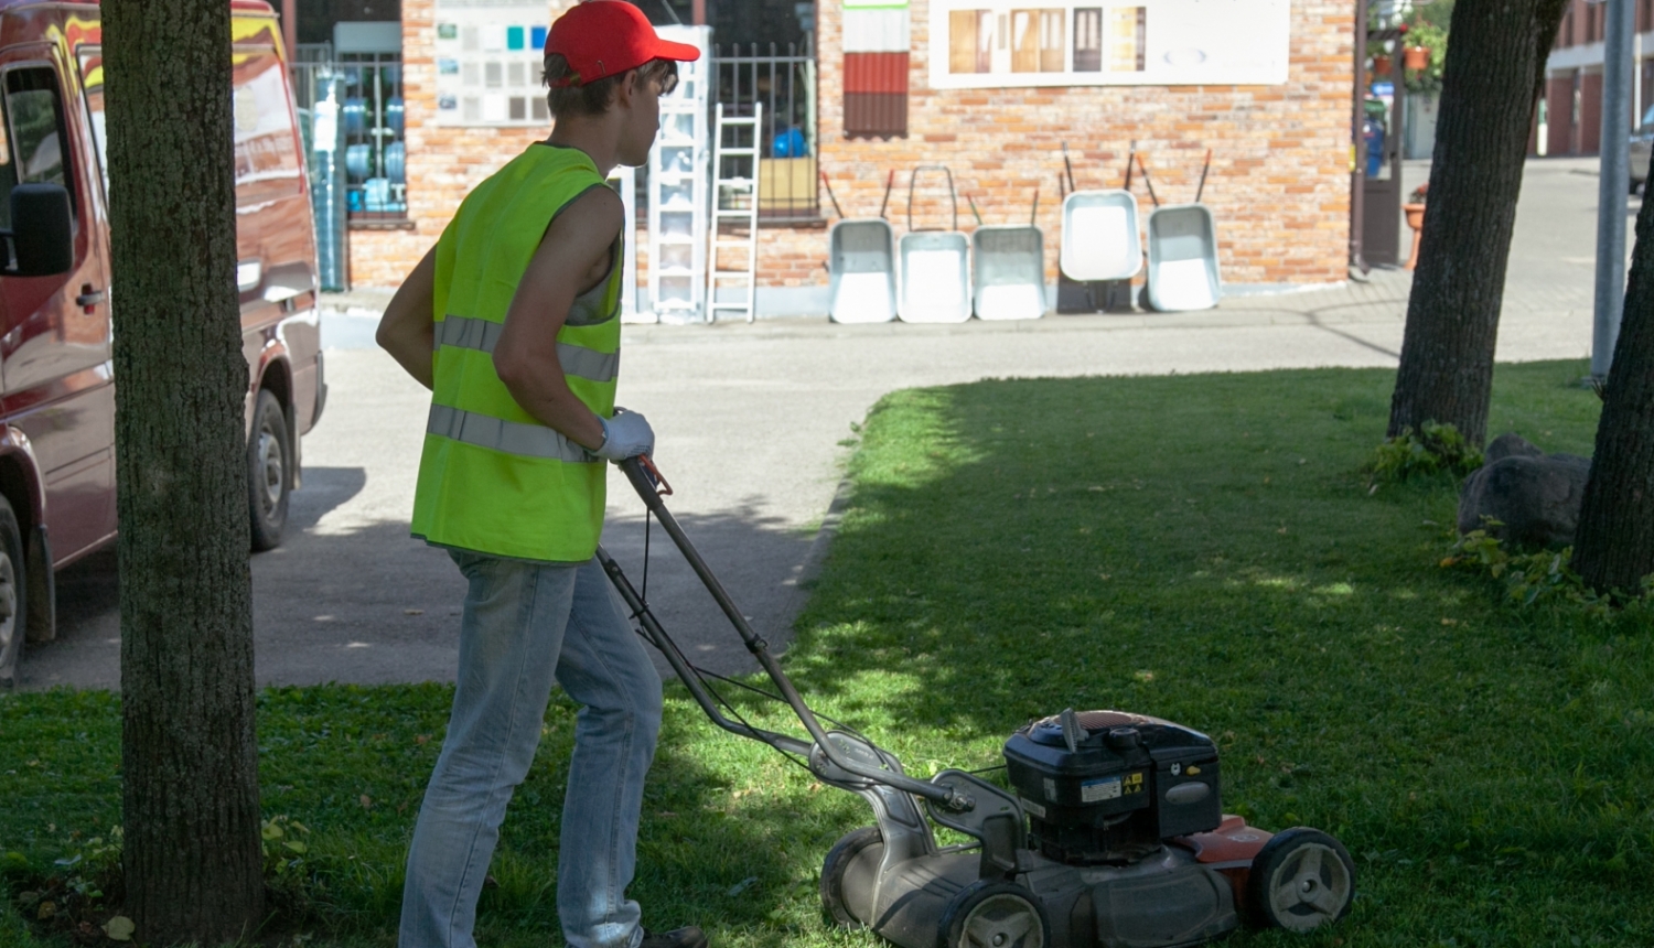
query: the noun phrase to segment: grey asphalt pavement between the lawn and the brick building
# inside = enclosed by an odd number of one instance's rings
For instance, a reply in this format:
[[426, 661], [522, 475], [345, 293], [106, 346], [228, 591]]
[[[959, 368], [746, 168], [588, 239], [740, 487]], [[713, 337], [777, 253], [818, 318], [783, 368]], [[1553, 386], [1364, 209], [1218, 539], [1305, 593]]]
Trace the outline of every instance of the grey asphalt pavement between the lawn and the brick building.
[[[1414, 175], [1419, 165], [1409, 165]], [[1594, 205], [1591, 160], [1530, 162], [1500, 361], [1589, 354]], [[840, 442], [885, 392], [982, 377], [1394, 366], [1409, 280], [1374, 271], [1366, 283], [1226, 298], [1189, 314], [627, 326], [620, 402], [653, 424], [657, 460], [676, 488], [672, 510], [781, 649], [807, 596], [799, 579], [825, 551], [819, 528], [849, 452]], [[327, 410], [304, 438], [286, 541], [251, 561], [261, 685], [453, 678], [463, 582], [442, 551], [407, 534], [427, 394], [367, 347], [372, 326], [357, 309], [324, 318]], [[619, 473], [605, 544], [642, 581], [642, 505]], [[658, 526], [652, 553], [648, 597], [667, 629], [713, 670], [751, 668]], [[28, 649], [20, 687], [117, 687], [112, 551], [60, 572], [58, 624], [58, 640]]]

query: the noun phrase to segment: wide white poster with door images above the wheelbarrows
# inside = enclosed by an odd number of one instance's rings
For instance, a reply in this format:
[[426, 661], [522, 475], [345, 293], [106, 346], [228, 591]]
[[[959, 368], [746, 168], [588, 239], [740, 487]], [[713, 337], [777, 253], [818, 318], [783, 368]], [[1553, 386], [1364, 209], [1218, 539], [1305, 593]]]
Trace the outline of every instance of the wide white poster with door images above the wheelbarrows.
[[933, 0], [930, 18], [938, 89], [1287, 81], [1290, 0]]

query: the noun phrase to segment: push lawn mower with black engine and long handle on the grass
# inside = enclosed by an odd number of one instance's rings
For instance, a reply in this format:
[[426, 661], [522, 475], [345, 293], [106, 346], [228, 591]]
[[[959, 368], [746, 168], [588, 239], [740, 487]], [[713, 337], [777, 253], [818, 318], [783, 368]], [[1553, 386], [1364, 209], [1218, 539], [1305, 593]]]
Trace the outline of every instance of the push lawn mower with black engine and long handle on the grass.
[[[672, 488], [653, 463], [620, 468], [809, 740], [749, 725], [723, 701], [599, 548], [642, 635], [713, 723], [873, 809], [873, 826], [844, 835], [822, 865], [835, 923], [903, 948], [1171, 948], [1242, 922], [1308, 931], [1348, 913], [1355, 864], [1345, 847], [1317, 829], [1270, 834], [1226, 816], [1216, 745], [1171, 721], [1072, 708], [1032, 721], [1004, 745], [1011, 789], [963, 769], [908, 776], [890, 751], [810, 711], [667, 510]], [[931, 824], [971, 842], [938, 845]]]

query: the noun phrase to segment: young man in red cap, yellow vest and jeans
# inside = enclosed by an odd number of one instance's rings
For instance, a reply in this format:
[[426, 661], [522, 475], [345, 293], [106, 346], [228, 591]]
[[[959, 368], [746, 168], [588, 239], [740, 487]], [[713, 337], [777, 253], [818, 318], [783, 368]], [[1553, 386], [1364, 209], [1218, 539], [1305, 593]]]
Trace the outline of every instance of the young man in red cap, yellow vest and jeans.
[[648, 935], [632, 882], [660, 677], [592, 558], [605, 460], [655, 435], [614, 407], [617, 164], [640, 165], [695, 46], [624, 0], [564, 13], [546, 43], [551, 137], [480, 184], [397, 290], [379, 344], [432, 389], [414, 536], [468, 581], [448, 735], [409, 849], [400, 948], [473, 948], [476, 898], [552, 680], [582, 705], [562, 804], [557, 915], [571, 948], [703, 948]]

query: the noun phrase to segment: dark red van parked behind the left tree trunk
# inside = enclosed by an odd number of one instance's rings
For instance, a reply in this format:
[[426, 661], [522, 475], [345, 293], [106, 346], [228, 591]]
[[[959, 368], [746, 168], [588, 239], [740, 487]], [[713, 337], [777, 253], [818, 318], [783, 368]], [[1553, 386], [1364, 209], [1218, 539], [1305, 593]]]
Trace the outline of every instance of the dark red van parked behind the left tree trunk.
[[[270, 549], [326, 397], [316, 232], [276, 15], [230, 7], [248, 515]], [[53, 571], [116, 531], [101, 41], [96, 0], [0, 0], [0, 680], [55, 635]]]

